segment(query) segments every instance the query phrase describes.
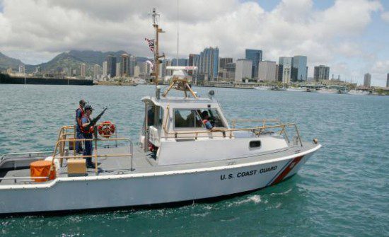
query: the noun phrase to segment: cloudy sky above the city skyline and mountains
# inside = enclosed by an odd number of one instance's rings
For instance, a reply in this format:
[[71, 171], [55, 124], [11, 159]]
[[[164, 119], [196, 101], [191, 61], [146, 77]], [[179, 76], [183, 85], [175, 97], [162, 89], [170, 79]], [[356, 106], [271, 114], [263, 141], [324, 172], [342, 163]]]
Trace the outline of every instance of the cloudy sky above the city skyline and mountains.
[[[219, 47], [220, 57], [264, 60], [306, 55], [308, 76], [325, 64], [330, 75], [385, 86], [389, 73], [389, 0], [0, 0], [0, 52], [26, 64], [69, 50], [125, 50], [152, 57], [153, 7], [161, 13], [161, 52], [187, 57]], [[179, 10], [179, 11], [178, 11]]]

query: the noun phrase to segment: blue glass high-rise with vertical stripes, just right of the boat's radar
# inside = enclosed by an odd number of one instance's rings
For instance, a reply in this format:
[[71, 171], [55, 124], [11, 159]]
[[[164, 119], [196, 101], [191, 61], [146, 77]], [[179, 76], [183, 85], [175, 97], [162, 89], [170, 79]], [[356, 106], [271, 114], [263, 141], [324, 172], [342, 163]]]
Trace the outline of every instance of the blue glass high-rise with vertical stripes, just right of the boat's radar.
[[200, 53], [199, 74], [204, 81], [216, 81], [219, 71], [219, 48], [207, 47]]

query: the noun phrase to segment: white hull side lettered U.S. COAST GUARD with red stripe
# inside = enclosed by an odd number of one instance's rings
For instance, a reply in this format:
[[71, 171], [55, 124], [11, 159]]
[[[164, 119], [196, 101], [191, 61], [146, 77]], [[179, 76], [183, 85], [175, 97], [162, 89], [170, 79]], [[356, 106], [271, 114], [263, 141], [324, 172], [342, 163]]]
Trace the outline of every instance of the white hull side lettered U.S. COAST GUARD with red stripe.
[[[158, 173], [57, 178], [0, 187], [0, 214], [165, 204], [257, 190], [297, 173], [320, 145], [294, 156]], [[9, 185], [8, 185], [9, 186]]]

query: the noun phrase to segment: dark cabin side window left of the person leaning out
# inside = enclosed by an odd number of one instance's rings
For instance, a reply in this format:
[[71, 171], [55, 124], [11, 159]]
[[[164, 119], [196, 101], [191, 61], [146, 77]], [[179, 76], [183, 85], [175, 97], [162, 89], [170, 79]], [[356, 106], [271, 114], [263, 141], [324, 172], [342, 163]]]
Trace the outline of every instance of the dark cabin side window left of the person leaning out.
[[196, 110], [174, 110], [174, 127], [203, 127]]

